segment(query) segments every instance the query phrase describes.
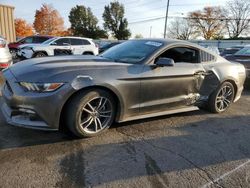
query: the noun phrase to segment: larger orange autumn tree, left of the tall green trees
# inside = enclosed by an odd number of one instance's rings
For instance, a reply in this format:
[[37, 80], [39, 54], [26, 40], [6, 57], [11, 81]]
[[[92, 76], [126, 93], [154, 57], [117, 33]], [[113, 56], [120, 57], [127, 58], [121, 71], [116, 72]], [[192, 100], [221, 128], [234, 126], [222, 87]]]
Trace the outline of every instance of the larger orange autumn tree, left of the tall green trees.
[[64, 21], [59, 12], [52, 5], [43, 4], [36, 10], [34, 28], [41, 35], [60, 36], [64, 31]]

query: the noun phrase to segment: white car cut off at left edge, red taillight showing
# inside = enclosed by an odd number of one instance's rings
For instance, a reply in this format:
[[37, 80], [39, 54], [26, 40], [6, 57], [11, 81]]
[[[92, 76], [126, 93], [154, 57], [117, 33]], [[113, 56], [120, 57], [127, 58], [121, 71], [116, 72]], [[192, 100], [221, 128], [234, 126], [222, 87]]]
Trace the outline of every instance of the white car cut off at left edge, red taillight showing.
[[0, 71], [12, 65], [12, 57], [9, 52], [7, 41], [0, 36]]

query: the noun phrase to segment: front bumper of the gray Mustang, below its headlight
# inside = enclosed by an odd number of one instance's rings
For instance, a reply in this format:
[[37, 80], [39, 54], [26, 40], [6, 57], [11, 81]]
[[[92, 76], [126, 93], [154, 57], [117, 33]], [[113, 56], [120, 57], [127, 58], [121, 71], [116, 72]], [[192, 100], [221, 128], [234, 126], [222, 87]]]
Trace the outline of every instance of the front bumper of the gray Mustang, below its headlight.
[[[6, 121], [15, 126], [40, 130], [58, 130], [60, 115], [69, 95], [67, 85], [51, 93], [26, 92], [10, 70], [4, 71], [1, 110]], [[66, 99], [67, 97], [65, 97]]]

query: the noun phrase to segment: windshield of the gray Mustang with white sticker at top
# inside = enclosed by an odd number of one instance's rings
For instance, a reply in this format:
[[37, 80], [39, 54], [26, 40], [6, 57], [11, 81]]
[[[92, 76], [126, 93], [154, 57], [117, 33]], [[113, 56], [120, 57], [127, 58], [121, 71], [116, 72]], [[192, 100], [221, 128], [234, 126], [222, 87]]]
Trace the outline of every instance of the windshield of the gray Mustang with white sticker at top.
[[108, 49], [101, 55], [101, 57], [116, 62], [136, 64], [152, 55], [162, 45], [163, 43], [156, 41], [127, 41]]

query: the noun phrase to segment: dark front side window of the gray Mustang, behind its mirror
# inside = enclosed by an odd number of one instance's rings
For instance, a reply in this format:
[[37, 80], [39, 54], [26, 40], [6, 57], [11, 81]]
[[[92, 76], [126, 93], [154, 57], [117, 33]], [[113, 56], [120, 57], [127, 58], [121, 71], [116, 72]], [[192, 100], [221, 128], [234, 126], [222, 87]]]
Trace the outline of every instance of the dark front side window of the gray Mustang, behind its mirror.
[[165, 51], [160, 57], [171, 58], [175, 63], [199, 63], [199, 51], [188, 47], [175, 47]]

